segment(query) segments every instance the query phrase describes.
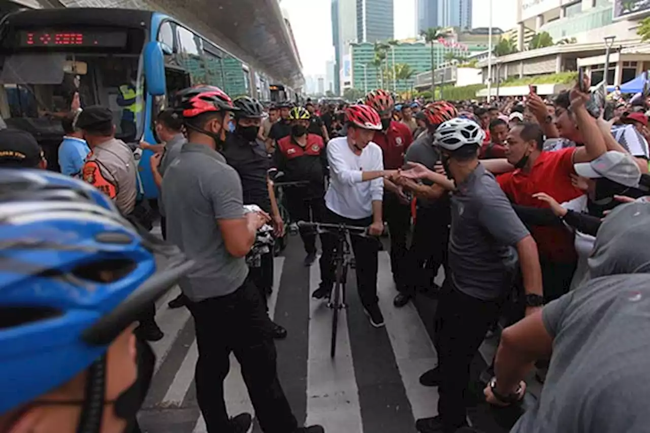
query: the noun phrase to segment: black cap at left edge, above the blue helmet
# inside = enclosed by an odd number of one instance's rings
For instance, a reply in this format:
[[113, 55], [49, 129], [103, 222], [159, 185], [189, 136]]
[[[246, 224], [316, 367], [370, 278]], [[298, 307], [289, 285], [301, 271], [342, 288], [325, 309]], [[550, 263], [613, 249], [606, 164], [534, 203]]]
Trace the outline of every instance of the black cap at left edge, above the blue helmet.
[[0, 167], [36, 168], [42, 159], [43, 151], [36, 138], [27, 131], [0, 131]]

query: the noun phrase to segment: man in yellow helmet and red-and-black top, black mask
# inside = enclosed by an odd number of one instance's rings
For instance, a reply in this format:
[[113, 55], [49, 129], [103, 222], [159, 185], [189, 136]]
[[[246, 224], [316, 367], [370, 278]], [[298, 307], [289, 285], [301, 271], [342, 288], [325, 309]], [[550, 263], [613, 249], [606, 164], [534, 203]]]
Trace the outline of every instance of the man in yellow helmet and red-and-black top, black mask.
[[[309, 111], [296, 107], [289, 113], [291, 135], [278, 142], [275, 163], [289, 182], [308, 181], [304, 187], [287, 188], [287, 203], [292, 220], [320, 221], [324, 211], [324, 176], [327, 172], [327, 153], [322, 137], [308, 133], [311, 124]], [[316, 259], [316, 234], [300, 229], [305, 244], [305, 266]]]

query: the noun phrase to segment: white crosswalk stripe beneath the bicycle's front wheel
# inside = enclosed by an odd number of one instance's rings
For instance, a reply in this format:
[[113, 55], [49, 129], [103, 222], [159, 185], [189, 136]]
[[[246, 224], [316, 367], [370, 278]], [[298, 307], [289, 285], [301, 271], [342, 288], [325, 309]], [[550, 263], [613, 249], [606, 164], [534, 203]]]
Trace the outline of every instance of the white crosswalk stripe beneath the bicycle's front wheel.
[[[309, 292], [318, 287], [320, 270], [309, 270]], [[336, 358], [330, 358], [331, 309], [312, 300], [309, 311], [307, 360], [307, 425], [320, 424], [328, 432], [362, 433], [359, 390], [354, 375], [346, 311], [339, 312]]]

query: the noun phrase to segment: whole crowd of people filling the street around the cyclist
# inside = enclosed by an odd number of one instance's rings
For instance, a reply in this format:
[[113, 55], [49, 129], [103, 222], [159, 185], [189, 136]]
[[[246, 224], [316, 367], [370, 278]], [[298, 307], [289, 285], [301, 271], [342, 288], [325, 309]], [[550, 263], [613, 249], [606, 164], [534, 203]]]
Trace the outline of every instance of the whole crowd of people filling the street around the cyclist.
[[[588, 84], [549, 99], [531, 88], [525, 101], [396, 103], [380, 89], [304, 107], [188, 88], [157, 116], [162, 144], [141, 144], [155, 152], [166, 242], [148, 233], [133, 151], [108, 109], [63, 119], [61, 174], [44, 170], [29, 133], [0, 131], [0, 432], [138, 431], [148, 341], [162, 338], [154, 302], [176, 282], [170, 308], [194, 318], [207, 431], [252, 426], [226, 410], [233, 353], [264, 432], [323, 432], [298, 426], [276, 371], [274, 339], [289, 334], [266, 311], [269, 244], [288, 228], [272, 173], [293, 184], [283, 196], [294, 221], [387, 228], [395, 308], [437, 299], [437, 365], [420, 382], [438, 387], [438, 415], [418, 419], [419, 432], [478, 432], [470, 365], [499, 323], [486, 401], [519, 404], [531, 369], [544, 383], [512, 432], [646, 431], [649, 101], [594, 116]], [[300, 237], [309, 267], [317, 233]], [[380, 328], [380, 244], [351, 241], [357, 292]], [[315, 300], [335, 283], [333, 235], [320, 248]]]

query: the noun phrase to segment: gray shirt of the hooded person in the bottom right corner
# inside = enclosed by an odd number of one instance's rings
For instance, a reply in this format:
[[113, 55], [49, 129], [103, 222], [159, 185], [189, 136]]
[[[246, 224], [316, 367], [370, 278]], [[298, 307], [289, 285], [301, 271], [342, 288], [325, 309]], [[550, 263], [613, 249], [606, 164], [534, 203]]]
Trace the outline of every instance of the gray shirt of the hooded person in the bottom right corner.
[[648, 311], [647, 274], [596, 278], [545, 306], [549, 373], [510, 432], [647, 432]]

